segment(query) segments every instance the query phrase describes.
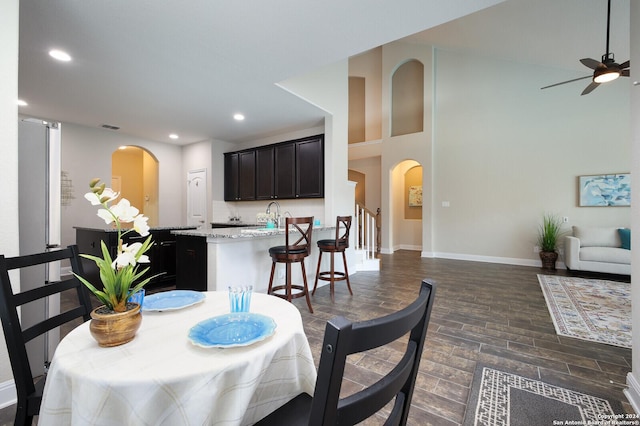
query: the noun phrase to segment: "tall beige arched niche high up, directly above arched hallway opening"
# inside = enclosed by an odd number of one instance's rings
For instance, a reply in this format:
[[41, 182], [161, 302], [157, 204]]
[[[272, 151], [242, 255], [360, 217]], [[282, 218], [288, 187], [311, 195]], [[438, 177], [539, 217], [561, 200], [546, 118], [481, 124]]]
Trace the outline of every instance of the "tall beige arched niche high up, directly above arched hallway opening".
[[424, 65], [410, 59], [391, 76], [391, 136], [424, 129]]

